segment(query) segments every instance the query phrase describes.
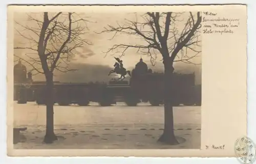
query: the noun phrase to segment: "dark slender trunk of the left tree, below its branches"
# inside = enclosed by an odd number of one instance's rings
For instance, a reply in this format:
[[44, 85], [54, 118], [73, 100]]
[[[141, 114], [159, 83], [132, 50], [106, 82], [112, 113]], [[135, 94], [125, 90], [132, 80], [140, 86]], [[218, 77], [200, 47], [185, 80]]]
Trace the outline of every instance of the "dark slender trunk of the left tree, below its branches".
[[57, 136], [54, 134], [54, 112], [53, 112], [53, 73], [46, 73], [46, 135], [44, 142], [47, 144], [53, 143], [57, 140]]

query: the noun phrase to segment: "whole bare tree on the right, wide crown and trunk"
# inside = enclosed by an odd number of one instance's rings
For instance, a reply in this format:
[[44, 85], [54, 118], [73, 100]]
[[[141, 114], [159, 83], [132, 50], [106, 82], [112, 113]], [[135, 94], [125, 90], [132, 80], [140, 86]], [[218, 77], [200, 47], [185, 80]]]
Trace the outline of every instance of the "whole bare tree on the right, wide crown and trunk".
[[[157, 53], [161, 54], [164, 65], [164, 131], [159, 138], [160, 142], [178, 144], [174, 135], [173, 99], [174, 91], [173, 72], [174, 62], [192, 63], [200, 50], [200, 31], [202, 17], [200, 12], [192, 13], [159, 13], [148, 12], [142, 15], [142, 21], [125, 20], [124, 24], [117, 26], [108, 25], [101, 33], [114, 33], [113, 38], [119, 34], [135, 36], [142, 39], [144, 44], [115, 44], [106, 54], [119, 52], [123, 56], [125, 51], [131, 48], [151, 57], [154, 65]], [[112, 38], [112, 39], [113, 39]], [[156, 50], [156, 51], [155, 51]], [[195, 54], [189, 56], [188, 52]]]

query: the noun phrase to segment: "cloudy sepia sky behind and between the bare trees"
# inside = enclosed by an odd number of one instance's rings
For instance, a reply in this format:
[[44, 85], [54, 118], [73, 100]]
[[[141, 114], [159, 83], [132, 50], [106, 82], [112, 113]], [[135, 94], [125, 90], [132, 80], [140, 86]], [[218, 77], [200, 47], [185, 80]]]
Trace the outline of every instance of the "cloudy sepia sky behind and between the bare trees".
[[[49, 17], [51, 18], [55, 13], [49, 13]], [[139, 38], [138, 36], [128, 36], [125, 34], [117, 35], [114, 39], [111, 39], [114, 33], [101, 33], [105, 27], [108, 25], [117, 26], [118, 24], [125, 24], [127, 20], [136, 19], [139, 22], [144, 22], [141, 15], [144, 13], [75, 13], [73, 14], [73, 19], [78, 20], [80, 18], [86, 19], [87, 22], [79, 23], [80, 26], [87, 26], [84, 30], [86, 34], [82, 35], [82, 39], [88, 40], [91, 45], [84, 44], [83, 47], [79, 47], [75, 49], [75, 56], [72, 58], [72, 61], [69, 62], [69, 67], [77, 69], [75, 72], [61, 73], [54, 72], [55, 80], [60, 81], [69, 81], [69, 82], [87, 82], [90, 80], [109, 80], [111, 77], [108, 77], [108, 72], [111, 69], [114, 69], [113, 65], [115, 63], [114, 57], [119, 57], [121, 53], [117, 51], [110, 52], [106, 54], [115, 44], [142, 44], [145, 45], [144, 40]], [[33, 20], [28, 20], [28, 15], [38, 20], [42, 20], [42, 13], [15, 13], [14, 20], [21, 25], [27, 25], [30, 28], [37, 27], [37, 24]], [[65, 19], [65, 15], [61, 15], [59, 20]], [[183, 16], [180, 17], [180, 21], [177, 21], [175, 26], [183, 29], [184, 23], [188, 18], [188, 13], [184, 13]], [[78, 25], [78, 24], [76, 24]], [[26, 38], [20, 36], [19, 33], [24, 36], [29, 36], [38, 39], [36, 35], [31, 32], [25, 31], [24, 28], [18, 24], [14, 25], [14, 47], [22, 47], [22, 46], [32, 46]], [[18, 33], [18, 32], [19, 33]], [[171, 33], [170, 33], [171, 34]], [[201, 38], [200, 38], [201, 39]], [[169, 41], [170, 43], [172, 40]], [[197, 50], [201, 50], [201, 47], [196, 47]], [[118, 49], [121, 50], [121, 49]], [[15, 49], [15, 55], [25, 58], [28, 60], [28, 57], [25, 54], [31, 53], [30, 50], [26, 49]], [[195, 54], [194, 51], [188, 51], [188, 56], [193, 56]], [[31, 58], [37, 56], [37, 54], [29, 54]], [[153, 66], [150, 62], [150, 57], [147, 55], [138, 52], [137, 49], [129, 49], [125, 52], [125, 55], [121, 57], [123, 61], [123, 66], [127, 70], [132, 70], [135, 67], [135, 64], [139, 61], [140, 58], [148, 65], [149, 68], [153, 69], [157, 72], [163, 72], [163, 64], [161, 54], [156, 52], [157, 59], [155, 60], [155, 66]], [[196, 58], [190, 60], [190, 62], [200, 64], [201, 63], [201, 53], [197, 55]], [[23, 62], [26, 67], [30, 68], [30, 66]], [[196, 83], [201, 84], [201, 65], [193, 65], [186, 64], [182, 62], [176, 62], [174, 64], [175, 71], [179, 73], [194, 73], [196, 74]], [[115, 76], [113, 74], [113, 76]], [[112, 76], [112, 77], [113, 77]], [[34, 80], [44, 80], [43, 75], [35, 75]]]

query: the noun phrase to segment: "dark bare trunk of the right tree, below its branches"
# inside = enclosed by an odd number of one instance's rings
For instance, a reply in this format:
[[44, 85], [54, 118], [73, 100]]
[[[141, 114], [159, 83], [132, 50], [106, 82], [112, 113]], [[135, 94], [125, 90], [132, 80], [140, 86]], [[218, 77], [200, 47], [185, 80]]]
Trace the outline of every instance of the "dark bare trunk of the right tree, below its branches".
[[169, 144], [179, 144], [174, 135], [173, 117], [173, 62], [170, 58], [164, 60], [164, 131], [158, 141]]

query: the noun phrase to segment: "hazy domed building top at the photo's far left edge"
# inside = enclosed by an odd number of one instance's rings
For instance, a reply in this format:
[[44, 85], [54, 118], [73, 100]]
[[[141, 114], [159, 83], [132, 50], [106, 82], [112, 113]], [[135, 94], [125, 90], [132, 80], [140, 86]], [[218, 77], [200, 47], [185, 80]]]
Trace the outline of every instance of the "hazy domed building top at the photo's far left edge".
[[27, 80], [27, 68], [22, 64], [22, 61], [19, 60], [18, 64], [14, 66], [13, 76], [14, 82], [16, 83], [22, 83]]

